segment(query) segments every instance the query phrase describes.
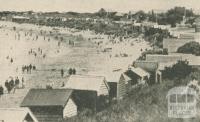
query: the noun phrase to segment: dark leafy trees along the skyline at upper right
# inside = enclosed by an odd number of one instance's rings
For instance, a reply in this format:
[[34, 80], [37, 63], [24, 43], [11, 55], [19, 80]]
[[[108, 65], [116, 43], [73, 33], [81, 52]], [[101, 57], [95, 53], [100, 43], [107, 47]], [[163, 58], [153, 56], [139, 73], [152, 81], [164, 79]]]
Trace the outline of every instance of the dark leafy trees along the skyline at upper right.
[[191, 9], [186, 9], [185, 7], [174, 7], [167, 12], [163, 13], [156, 13], [154, 10], [150, 11], [149, 13], [145, 13], [144, 11], [140, 10], [134, 14], [127, 13], [121, 17], [115, 16], [116, 12], [108, 12], [105, 9], [100, 9], [95, 15], [101, 18], [109, 18], [112, 20], [120, 20], [122, 18], [128, 18], [136, 20], [137, 22], [142, 22], [145, 20], [149, 20], [152, 22], [158, 22], [159, 24], [170, 24], [172, 27], [175, 27], [177, 23], [180, 23], [183, 20], [183, 16], [186, 15], [189, 19], [187, 19], [188, 24], [193, 24], [194, 22], [194, 13]]

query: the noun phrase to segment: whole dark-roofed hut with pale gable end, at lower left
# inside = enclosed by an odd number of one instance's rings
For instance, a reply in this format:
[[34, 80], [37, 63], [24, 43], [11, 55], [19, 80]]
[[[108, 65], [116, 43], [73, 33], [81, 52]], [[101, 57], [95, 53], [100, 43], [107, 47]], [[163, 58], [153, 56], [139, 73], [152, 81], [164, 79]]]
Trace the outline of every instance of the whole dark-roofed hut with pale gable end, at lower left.
[[21, 103], [39, 122], [57, 122], [77, 115], [77, 106], [69, 89], [31, 89]]

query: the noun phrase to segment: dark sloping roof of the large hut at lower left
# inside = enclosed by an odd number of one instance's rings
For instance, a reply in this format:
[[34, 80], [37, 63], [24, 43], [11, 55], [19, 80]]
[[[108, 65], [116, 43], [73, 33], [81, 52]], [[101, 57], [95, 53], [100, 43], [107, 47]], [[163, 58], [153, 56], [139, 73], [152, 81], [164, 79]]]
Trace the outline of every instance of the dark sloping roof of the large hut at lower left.
[[71, 96], [70, 89], [31, 89], [21, 103], [22, 107], [62, 106]]

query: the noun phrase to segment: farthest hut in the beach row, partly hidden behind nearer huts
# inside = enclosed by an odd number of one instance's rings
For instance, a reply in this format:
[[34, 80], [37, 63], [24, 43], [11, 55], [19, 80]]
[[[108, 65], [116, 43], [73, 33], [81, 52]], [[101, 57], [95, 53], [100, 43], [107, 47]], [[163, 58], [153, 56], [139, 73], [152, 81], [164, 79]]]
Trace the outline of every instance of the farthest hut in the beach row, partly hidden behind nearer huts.
[[158, 62], [137, 60], [133, 63], [133, 66], [140, 67], [150, 74], [149, 83], [162, 82], [162, 73], [159, 70]]

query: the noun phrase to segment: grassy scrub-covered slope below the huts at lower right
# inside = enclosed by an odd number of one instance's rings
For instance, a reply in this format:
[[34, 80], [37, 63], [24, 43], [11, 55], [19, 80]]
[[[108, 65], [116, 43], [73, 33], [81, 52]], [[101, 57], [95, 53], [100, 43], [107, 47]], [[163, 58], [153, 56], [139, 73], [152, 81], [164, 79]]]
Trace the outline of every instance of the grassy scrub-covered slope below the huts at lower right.
[[[190, 78], [184, 79], [188, 81]], [[173, 80], [164, 80], [154, 86], [140, 86], [132, 90], [127, 97], [97, 115], [81, 113], [70, 122], [199, 122], [196, 118], [168, 118], [167, 92], [175, 86]], [[197, 105], [199, 109], [199, 105]], [[198, 111], [198, 110], [197, 110]], [[66, 120], [67, 122], [68, 120]]]

